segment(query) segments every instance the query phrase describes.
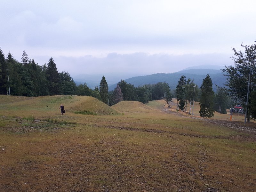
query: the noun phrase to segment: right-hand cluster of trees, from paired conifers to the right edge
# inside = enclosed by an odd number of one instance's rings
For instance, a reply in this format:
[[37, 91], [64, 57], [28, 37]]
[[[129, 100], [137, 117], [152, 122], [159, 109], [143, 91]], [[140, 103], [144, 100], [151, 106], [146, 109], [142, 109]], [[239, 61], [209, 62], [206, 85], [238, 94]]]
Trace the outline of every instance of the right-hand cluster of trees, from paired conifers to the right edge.
[[[255, 41], [256, 42], [256, 41]], [[227, 113], [226, 108], [240, 104], [245, 109], [245, 122], [250, 119], [256, 120], [256, 44], [243, 45], [243, 51], [236, 51], [233, 48], [234, 66], [225, 66], [222, 69], [226, 76], [225, 87], [218, 87], [217, 92], [212, 90], [212, 79], [207, 74], [203, 79], [202, 85], [197, 91], [197, 85], [193, 80], [186, 80], [181, 76], [176, 87], [176, 97], [180, 110], [186, 111], [189, 103], [189, 113], [191, 111], [192, 90], [199, 95], [200, 116], [212, 117], [214, 111]], [[195, 92], [196, 91], [196, 92]], [[193, 95], [194, 96], [194, 95]]]

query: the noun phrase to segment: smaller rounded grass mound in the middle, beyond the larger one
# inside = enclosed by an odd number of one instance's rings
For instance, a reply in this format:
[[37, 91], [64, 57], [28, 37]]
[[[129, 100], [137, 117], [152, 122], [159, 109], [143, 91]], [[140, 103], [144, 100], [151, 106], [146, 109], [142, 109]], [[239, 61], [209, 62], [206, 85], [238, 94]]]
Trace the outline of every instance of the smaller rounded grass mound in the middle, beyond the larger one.
[[111, 108], [120, 112], [142, 112], [145, 110], [152, 110], [152, 108], [138, 101], [121, 101]]

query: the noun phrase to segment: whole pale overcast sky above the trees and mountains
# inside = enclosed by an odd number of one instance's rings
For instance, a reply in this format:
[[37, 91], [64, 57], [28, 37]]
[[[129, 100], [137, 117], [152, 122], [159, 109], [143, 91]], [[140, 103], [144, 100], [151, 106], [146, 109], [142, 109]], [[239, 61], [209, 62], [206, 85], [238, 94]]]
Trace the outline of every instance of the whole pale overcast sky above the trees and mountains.
[[256, 40], [255, 0], [0, 0], [0, 48], [59, 72], [172, 73], [230, 65]]

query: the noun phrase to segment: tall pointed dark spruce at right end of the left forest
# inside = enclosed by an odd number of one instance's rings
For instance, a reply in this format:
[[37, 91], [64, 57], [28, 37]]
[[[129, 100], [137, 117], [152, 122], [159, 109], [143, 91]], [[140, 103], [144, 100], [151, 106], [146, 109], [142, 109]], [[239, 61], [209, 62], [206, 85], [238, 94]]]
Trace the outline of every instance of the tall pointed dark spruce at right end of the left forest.
[[52, 57], [48, 61], [46, 73], [48, 80], [47, 91], [50, 95], [60, 94], [60, 75]]

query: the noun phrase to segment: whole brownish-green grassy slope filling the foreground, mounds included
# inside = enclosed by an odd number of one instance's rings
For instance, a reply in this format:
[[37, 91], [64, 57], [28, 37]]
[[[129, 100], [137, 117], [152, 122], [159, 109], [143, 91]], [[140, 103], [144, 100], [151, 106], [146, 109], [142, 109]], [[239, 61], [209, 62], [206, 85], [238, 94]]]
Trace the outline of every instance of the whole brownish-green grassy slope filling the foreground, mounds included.
[[255, 132], [175, 104], [0, 95], [0, 191], [255, 191]]

